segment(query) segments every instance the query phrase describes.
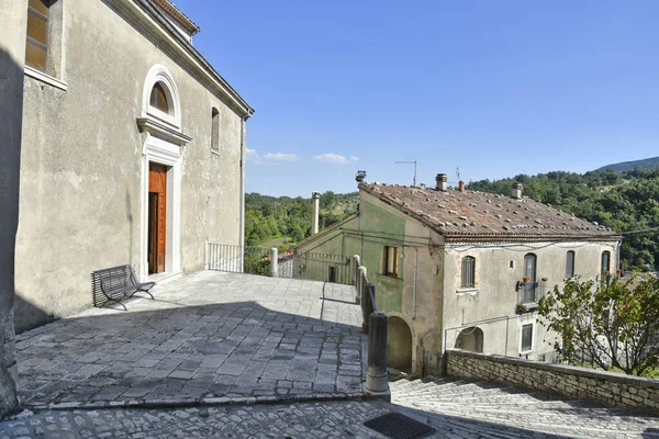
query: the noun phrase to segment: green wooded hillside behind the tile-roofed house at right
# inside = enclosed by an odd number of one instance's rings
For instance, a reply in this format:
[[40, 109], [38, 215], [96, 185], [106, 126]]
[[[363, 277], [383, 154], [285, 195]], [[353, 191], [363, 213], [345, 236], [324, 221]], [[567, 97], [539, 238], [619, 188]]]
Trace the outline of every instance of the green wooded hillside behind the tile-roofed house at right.
[[[659, 227], [659, 170], [518, 175], [495, 181], [473, 181], [467, 188], [510, 194], [513, 182], [523, 183], [524, 194], [536, 201], [616, 232]], [[621, 252], [625, 270], [656, 271], [659, 269], [659, 234], [626, 235]]]

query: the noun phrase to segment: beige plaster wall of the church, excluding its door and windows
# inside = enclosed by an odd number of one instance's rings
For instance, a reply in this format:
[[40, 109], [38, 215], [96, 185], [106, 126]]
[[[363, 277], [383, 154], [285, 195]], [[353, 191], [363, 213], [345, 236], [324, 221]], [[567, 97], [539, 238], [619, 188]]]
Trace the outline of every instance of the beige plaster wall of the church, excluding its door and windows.
[[[20, 329], [91, 304], [90, 272], [139, 268], [142, 112], [146, 75], [165, 66], [181, 102], [181, 269], [203, 266], [204, 240], [238, 244], [241, 117], [107, 2], [63, 5], [64, 91], [25, 78], [21, 218], [16, 248]], [[211, 112], [221, 114], [217, 154]], [[137, 270], [138, 271], [138, 270]]]

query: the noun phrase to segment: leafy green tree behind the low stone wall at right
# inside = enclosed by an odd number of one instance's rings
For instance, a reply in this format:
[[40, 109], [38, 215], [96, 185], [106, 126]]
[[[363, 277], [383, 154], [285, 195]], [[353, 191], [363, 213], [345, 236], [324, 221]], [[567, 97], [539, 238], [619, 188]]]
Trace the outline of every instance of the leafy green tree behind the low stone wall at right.
[[569, 363], [583, 356], [603, 370], [643, 375], [659, 364], [659, 279], [611, 284], [568, 279], [539, 303], [541, 324], [558, 334], [554, 349]]

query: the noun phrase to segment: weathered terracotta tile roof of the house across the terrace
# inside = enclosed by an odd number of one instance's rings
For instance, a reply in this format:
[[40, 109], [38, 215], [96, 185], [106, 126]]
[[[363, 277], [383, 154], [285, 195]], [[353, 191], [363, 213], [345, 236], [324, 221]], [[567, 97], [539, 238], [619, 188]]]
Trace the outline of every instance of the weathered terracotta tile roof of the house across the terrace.
[[360, 190], [415, 217], [449, 238], [617, 239], [604, 226], [589, 223], [530, 200], [478, 191], [367, 183]]

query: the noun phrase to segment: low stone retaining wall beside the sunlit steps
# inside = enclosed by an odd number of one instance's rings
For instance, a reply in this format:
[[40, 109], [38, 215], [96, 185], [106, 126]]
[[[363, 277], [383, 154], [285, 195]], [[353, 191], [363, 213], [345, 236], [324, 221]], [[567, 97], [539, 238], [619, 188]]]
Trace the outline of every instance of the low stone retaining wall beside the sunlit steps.
[[449, 376], [500, 381], [607, 406], [659, 413], [659, 380], [458, 349], [447, 350], [444, 361]]

